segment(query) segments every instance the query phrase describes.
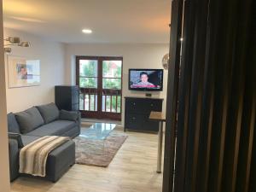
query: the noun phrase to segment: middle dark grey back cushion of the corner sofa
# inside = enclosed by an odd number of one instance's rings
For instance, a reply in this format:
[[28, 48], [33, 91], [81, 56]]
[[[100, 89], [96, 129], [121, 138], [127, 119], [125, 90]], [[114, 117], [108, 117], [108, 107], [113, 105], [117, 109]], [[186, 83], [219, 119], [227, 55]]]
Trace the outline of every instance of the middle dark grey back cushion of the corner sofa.
[[15, 116], [20, 125], [21, 133], [27, 133], [40, 125], [44, 125], [44, 119], [37, 108], [26, 109], [26, 111], [15, 113]]

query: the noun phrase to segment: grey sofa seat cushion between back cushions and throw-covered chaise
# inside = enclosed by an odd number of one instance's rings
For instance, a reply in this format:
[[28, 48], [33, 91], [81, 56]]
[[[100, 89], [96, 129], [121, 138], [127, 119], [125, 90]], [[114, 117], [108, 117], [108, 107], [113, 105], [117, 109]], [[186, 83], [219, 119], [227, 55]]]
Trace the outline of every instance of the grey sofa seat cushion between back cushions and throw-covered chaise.
[[62, 136], [77, 124], [68, 120], [56, 120], [49, 124], [38, 127], [38, 129], [26, 133], [27, 136]]

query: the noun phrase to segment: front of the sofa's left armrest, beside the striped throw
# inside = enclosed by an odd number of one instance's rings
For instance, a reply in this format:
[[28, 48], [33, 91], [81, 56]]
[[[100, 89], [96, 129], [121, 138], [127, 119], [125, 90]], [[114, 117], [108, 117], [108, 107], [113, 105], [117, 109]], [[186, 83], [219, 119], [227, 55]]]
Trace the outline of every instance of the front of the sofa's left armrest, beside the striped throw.
[[19, 177], [19, 147], [15, 139], [9, 138], [9, 173], [10, 181]]

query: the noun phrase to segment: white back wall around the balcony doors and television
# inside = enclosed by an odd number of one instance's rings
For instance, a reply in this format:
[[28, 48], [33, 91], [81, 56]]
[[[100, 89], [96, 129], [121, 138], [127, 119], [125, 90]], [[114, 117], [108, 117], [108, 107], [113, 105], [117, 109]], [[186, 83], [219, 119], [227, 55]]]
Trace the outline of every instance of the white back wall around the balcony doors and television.
[[[168, 44], [66, 44], [66, 83], [75, 84], [75, 55], [123, 56], [123, 96], [145, 96], [145, 92], [128, 90], [129, 68], [162, 68], [161, 60], [169, 52]], [[154, 97], [164, 98], [166, 112], [167, 71], [164, 74], [164, 90], [152, 92]], [[123, 99], [123, 111], [124, 108]], [[124, 113], [122, 113], [124, 123]]]

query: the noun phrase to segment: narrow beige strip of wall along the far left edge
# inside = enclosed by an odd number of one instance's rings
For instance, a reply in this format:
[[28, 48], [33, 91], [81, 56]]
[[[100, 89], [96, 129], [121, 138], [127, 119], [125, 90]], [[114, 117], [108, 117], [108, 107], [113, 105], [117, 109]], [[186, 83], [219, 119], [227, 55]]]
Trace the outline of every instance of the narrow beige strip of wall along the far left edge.
[[[0, 39], [3, 39], [3, 2], [0, 0]], [[7, 138], [3, 41], [0, 42], [0, 191], [9, 192], [9, 152]]]

